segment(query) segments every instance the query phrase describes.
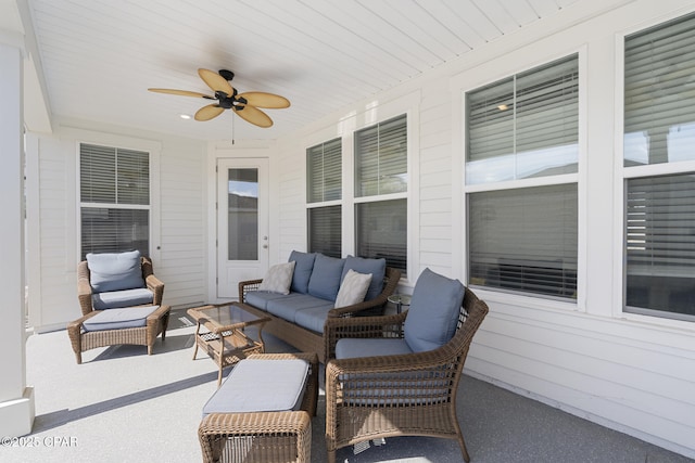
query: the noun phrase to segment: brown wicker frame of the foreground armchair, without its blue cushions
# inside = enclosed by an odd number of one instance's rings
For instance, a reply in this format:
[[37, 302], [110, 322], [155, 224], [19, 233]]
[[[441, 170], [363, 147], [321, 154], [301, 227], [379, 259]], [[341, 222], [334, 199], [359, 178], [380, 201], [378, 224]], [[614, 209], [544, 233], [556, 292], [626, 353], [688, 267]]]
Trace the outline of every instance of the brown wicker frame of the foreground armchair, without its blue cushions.
[[[417, 285], [416, 285], [417, 291]], [[488, 306], [468, 288], [454, 336], [434, 350], [336, 360], [341, 338], [403, 338], [408, 312], [326, 322], [326, 447], [336, 450], [393, 436], [430, 436], [458, 441], [469, 461], [456, 419], [456, 391], [476, 331]]]

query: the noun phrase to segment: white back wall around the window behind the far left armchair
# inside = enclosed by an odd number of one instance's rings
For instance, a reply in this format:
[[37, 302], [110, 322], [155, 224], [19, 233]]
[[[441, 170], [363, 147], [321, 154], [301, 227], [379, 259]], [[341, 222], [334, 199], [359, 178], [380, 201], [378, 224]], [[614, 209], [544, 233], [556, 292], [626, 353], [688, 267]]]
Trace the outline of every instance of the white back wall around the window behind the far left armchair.
[[165, 284], [164, 303], [186, 307], [206, 300], [206, 144], [71, 121], [51, 136], [28, 136], [29, 324], [38, 332], [60, 330], [81, 314], [76, 270], [83, 141], [151, 153], [150, 254]]

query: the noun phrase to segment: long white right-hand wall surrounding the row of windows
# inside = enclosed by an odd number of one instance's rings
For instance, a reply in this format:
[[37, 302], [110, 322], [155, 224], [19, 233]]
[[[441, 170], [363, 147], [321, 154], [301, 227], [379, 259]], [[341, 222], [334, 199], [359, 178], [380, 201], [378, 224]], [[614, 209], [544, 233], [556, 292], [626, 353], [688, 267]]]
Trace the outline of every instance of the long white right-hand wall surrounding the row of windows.
[[[462, 94], [578, 52], [579, 298], [577, 304], [567, 304], [476, 288], [491, 312], [477, 335], [466, 370], [695, 456], [695, 323], [622, 313], [620, 120], [622, 38], [695, 11], [695, 4], [628, 2], [585, 22], [577, 21], [580, 8], [570, 7], [539, 27], [489, 43], [459, 62], [357, 102], [282, 140], [271, 164], [278, 180], [271, 205], [273, 210], [279, 208], [281, 252], [277, 259], [285, 260], [292, 249], [306, 246], [306, 147], [330, 140], [345, 127], [354, 130], [355, 125], [345, 121], [359, 120], [369, 112], [367, 107], [378, 110], [388, 102], [410, 99], [416, 113], [409, 117], [417, 120], [408, 140], [415, 144], [409, 165], [410, 274], [403, 284], [413, 285], [426, 267], [467, 281]], [[352, 173], [343, 175], [343, 181], [352, 181]], [[351, 240], [349, 236], [348, 242]], [[350, 248], [343, 246], [343, 254], [350, 254]]]

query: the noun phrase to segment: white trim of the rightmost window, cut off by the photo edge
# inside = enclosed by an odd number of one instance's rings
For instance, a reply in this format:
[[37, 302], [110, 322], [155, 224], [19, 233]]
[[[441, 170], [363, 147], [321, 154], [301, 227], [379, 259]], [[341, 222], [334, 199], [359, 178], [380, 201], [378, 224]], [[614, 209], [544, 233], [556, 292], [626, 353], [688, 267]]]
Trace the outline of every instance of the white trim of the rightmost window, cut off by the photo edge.
[[626, 257], [624, 257], [624, 202], [626, 202], [626, 181], [628, 179], [639, 177], [655, 177], [661, 175], [684, 173], [695, 171], [695, 160], [684, 160], [679, 163], [664, 163], [645, 166], [624, 166], [624, 40], [626, 37], [645, 30], [649, 27], [658, 26], [675, 20], [685, 14], [693, 13], [692, 9], [681, 9], [669, 14], [653, 17], [647, 22], [640, 23], [632, 27], [626, 28], [615, 36], [615, 80], [616, 80], [616, 101], [615, 101], [615, 175], [614, 175], [614, 255], [612, 255], [612, 317], [616, 319], [624, 319], [632, 322], [645, 323], [654, 326], [664, 327], [687, 327], [692, 329], [693, 322], [687, 320], [678, 320], [657, 316], [646, 316], [642, 313], [627, 312], [624, 310], [626, 300]]

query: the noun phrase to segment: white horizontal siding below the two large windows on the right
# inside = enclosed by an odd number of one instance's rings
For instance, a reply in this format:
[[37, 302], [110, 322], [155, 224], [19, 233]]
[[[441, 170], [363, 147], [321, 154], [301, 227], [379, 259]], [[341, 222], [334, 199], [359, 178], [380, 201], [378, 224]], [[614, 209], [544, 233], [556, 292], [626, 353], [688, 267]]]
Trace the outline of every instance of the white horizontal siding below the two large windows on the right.
[[[695, 355], [640, 338], [642, 327], [616, 335], [610, 320], [574, 312], [539, 322], [525, 317], [528, 308], [491, 307], [470, 372], [582, 417], [677, 446], [691, 441], [684, 438], [695, 427]], [[546, 312], [535, 314], [547, 320]], [[594, 330], [578, 327], [579, 320]]]

